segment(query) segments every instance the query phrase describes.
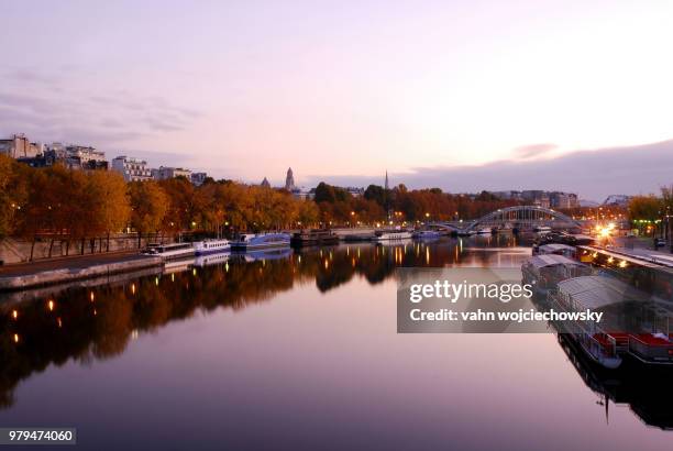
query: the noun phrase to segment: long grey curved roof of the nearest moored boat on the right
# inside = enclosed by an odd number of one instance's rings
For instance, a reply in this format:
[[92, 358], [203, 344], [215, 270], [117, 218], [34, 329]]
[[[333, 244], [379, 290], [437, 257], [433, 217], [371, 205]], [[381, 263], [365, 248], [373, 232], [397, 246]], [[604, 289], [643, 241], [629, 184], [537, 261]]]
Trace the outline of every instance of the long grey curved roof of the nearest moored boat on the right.
[[621, 280], [602, 276], [582, 276], [559, 282], [559, 292], [592, 310], [624, 301], [648, 301], [650, 297]]

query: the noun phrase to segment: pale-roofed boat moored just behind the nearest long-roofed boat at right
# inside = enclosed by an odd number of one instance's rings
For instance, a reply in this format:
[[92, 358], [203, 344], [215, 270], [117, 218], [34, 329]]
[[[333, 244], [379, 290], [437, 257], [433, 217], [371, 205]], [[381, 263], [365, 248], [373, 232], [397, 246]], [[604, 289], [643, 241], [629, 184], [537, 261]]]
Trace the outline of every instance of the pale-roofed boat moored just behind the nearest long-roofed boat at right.
[[525, 284], [531, 284], [533, 292], [545, 295], [556, 284], [571, 277], [589, 275], [592, 268], [563, 255], [536, 255], [521, 265]]

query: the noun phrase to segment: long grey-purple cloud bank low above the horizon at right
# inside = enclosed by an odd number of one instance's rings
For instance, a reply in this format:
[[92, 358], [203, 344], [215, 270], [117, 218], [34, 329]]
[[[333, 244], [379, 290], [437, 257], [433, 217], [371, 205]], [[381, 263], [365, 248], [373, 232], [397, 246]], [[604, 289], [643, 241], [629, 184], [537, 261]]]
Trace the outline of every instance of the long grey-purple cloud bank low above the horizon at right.
[[[499, 161], [479, 166], [417, 167], [389, 174], [390, 184], [409, 188], [439, 187], [450, 193], [507, 189], [559, 189], [603, 200], [611, 194], [658, 193], [673, 183], [673, 140], [653, 144], [577, 151], [554, 158]], [[309, 186], [383, 185], [379, 177], [310, 176]]]

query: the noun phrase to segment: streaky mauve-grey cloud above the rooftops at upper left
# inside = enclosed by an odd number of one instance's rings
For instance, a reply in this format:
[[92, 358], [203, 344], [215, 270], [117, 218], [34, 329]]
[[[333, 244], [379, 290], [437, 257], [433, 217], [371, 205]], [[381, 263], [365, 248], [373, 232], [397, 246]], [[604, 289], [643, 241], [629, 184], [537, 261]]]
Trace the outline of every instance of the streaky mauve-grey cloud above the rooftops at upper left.
[[70, 76], [66, 85], [58, 75], [30, 68], [0, 73], [0, 135], [22, 132], [35, 141], [106, 148], [185, 130], [199, 116], [162, 96], [87, 90], [73, 82], [77, 73]]

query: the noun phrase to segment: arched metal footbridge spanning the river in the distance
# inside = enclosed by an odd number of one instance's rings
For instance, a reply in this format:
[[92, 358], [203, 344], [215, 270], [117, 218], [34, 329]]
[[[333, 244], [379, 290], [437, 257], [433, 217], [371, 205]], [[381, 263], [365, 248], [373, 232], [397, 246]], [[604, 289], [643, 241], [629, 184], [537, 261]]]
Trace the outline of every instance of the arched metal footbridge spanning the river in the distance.
[[567, 215], [537, 206], [500, 208], [477, 220], [468, 222], [451, 221], [441, 224], [456, 231], [471, 231], [477, 228], [531, 230], [541, 226], [552, 229], [576, 229], [581, 227], [580, 222]]

